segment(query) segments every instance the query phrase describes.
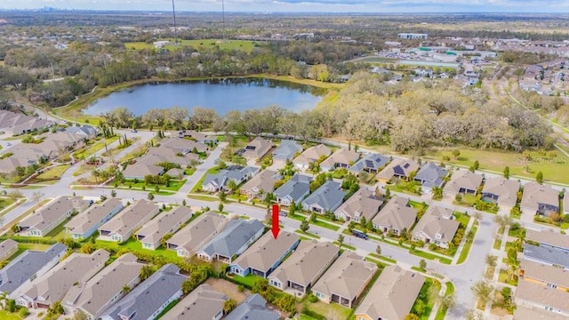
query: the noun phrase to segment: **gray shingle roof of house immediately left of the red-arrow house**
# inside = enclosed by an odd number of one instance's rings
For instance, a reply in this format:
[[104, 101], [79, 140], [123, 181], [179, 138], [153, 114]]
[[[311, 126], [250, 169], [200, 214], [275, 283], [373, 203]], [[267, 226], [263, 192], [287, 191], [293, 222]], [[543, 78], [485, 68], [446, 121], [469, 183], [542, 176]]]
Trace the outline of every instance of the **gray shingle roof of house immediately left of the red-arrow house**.
[[199, 252], [205, 252], [209, 256], [217, 253], [231, 258], [263, 228], [259, 220], [229, 220], [227, 228], [205, 244]]

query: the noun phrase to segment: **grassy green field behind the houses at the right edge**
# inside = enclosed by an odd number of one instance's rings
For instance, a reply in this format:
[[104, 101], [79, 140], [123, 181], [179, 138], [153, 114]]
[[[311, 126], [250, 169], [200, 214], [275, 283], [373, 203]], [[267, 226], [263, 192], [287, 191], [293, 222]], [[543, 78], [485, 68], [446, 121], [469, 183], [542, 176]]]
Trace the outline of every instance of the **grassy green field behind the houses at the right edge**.
[[[516, 152], [504, 152], [501, 150], [477, 150], [461, 148], [461, 156], [457, 159], [451, 155], [453, 148], [441, 148], [429, 153], [424, 158], [432, 159], [437, 162], [445, 162], [449, 164], [459, 164], [469, 167], [476, 160], [480, 164], [481, 170], [493, 172], [503, 172], [506, 166], [509, 166], [510, 177], [521, 176], [529, 179], [535, 179], [537, 172], [543, 172], [543, 180], [549, 180], [558, 183], [569, 183], [569, 175], [558, 174], [565, 165], [565, 158], [559, 151], [548, 151], [556, 153], [556, 157], [547, 159], [541, 157], [537, 152], [531, 153], [532, 159], [524, 160], [522, 154]], [[449, 156], [450, 161], [444, 161], [443, 157]], [[528, 165], [530, 172], [525, 171]], [[511, 178], [510, 178], [511, 179]]]

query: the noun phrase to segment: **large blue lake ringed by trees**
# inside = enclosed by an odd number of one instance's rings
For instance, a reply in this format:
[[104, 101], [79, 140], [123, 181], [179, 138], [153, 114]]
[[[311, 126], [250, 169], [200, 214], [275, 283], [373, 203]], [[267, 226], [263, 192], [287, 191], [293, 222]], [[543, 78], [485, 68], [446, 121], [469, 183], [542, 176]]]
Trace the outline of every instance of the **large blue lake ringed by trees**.
[[100, 116], [113, 108], [126, 107], [135, 115], [150, 108], [174, 106], [212, 108], [221, 116], [230, 110], [277, 105], [301, 111], [316, 107], [325, 90], [262, 78], [208, 79], [180, 83], [142, 84], [113, 92], [84, 109], [84, 114]]

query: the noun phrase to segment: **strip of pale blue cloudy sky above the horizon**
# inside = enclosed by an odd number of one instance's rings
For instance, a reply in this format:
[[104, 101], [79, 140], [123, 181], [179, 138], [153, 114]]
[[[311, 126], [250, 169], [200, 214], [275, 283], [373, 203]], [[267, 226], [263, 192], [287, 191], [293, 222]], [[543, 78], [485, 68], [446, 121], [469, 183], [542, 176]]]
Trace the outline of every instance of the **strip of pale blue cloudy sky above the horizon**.
[[[156, 10], [170, 0], [1, 0], [2, 9]], [[180, 11], [220, 11], [221, 0], [176, 0]], [[226, 0], [227, 12], [569, 12], [569, 0]]]

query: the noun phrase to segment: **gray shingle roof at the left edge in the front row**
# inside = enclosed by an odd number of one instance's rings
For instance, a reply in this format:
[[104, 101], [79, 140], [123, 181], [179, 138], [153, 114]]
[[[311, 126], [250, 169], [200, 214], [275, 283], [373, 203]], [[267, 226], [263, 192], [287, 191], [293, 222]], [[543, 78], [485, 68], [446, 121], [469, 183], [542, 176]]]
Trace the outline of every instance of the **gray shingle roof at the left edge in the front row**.
[[36, 274], [41, 268], [68, 250], [65, 244], [53, 244], [44, 252], [28, 250], [18, 259], [12, 260], [0, 270], [0, 292], [12, 293], [26, 282], [30, 276]]

